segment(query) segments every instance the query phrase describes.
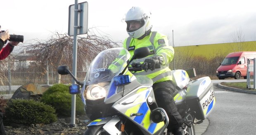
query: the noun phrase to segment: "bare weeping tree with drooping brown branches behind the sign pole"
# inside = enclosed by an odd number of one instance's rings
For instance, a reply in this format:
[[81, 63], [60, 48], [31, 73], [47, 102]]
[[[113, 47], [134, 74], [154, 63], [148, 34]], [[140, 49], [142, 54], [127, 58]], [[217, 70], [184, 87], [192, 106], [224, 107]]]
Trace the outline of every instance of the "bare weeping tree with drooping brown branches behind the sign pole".
[[[83, 77], [85, 76], [85, 73], [91, 61], [102, 50], [113, 47], [121, 47], [120, 42], [114, 42], [110, 40], [107, 36], [97, 36], [94, 33], [94, 29], [96, 28], [90, 28], [86, 35], [83, 35], [83, 37], [77, 37], [77, 71], [80, 72]], [[60, 76], [56, 72], [59, 65], [69, 65], [72, 72], [74, 55], [73, 36], [69, 36], [67, 33], [59, 34], [56, 32], [47, 41], [43, 42], [37, 39], [35, 39], [34, 41], [36, 41], [35, 44], [29, 44], [28, 46], [23, 47], [21, 49], [22, 51], [20, 52], [20, 54], [33, 54], [33, 56], [29, 57], [26, 55], [21, 56], [22, 61], [33, 62], [30, 62], [30, 65], [26, 65], [25, 67], [17, 65], [15, 69], [11, 69], [12, 79], [19, 80], [16, 82], [12, 82], [12, 85], [18, 85], [17, 83], [22, 85], [26, 84], [27, 82], [45, 84], [47, 77], [47, 65], [51, 67], [51, 69], [54, 69], [53, 71], [55, 71], [54, 73], [52, 73], [52, 76], [55, 77], [55, 83], [60, 80]], [[0, 79], [7, 80], [8, 78], [7, 60], [8, 59], [6, 59], [5, 61], [0, 61], [6, 62], [0, 64], [2, 69], [0, 70]], [[70, 82], [66, 81], [66, 77], [67, 76], [62, 76], [63, 83]], [[21, 82], [20, 80], [24, 81]], [[5, 83], [5, 85], [8, 84]]]

